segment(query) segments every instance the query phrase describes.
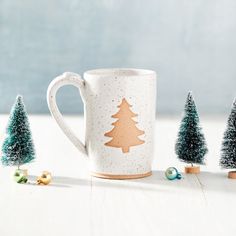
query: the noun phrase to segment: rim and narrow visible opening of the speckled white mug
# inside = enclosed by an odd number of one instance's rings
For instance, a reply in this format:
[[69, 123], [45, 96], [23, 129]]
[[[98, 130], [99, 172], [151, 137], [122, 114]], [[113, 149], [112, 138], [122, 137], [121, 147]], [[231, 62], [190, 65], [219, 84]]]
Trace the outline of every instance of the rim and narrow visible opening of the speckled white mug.
[[133, 77], [133, 76], [155, 76], [156, 72], [148, 69], [136, 69], [136, 68], [101, 68], [88, 70], [84, 72], [84, 77]]

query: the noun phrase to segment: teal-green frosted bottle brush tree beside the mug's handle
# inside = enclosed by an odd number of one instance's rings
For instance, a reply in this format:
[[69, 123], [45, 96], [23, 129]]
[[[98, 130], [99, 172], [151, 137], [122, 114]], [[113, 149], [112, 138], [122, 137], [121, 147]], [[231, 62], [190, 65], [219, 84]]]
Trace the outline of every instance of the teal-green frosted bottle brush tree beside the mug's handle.
[[22, 96], [18, 95], [12, 107], [7, 136], [2, 146], [2, 164], [17, 166], [29, 163], [35, 159], [34, 144], [30, 125]]

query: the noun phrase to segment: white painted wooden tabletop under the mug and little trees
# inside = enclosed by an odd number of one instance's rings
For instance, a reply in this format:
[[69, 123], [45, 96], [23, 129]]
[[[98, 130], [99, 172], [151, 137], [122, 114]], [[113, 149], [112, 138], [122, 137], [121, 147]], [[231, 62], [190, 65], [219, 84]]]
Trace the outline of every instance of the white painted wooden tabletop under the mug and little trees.
[[[43, 170], [49, 186], [20, 185], [15, 168], [0, 168], [1, 236], [235, 235], [236, 180], [218, 167], [227, 117], [202, 117], [209, 154], [200, 175], [168, 181], [164, 170], [183, 170], [174, 154], [179, 118], [156, 126], [153, 175], [138, 180], [103, 180], [88, 175], [88, 163], [49, 116], [30, 116], [37, 160], [25, 166], [34, 182]], [[66, 117], [84, 135], [82, 117]], [[0, 141], [7, 116], [0, 116]]]

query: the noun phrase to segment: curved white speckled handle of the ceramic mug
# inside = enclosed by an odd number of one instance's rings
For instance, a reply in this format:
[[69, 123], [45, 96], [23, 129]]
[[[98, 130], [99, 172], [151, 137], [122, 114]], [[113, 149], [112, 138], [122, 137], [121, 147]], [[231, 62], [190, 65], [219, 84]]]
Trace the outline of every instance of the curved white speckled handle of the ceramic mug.
[[56, 77], [48, 87], [47, 90], [48, 107], [52, 117], [56, 120], [57, 124], [62, 129], [64, 134], [79, 149], [81, 153], [87, 156], [86, 146], [76, 137], [74, 132], [65, 123], [63, 116], [57, 106], [56, 102], [57, 91], [65, 85], [73, 85], [77, 87], [80, 91], [82, 99], [84, 98], [84, 88], [85, 88], [84, 80], [78, 74], [72, 72], [65, 72], [62, 75]]

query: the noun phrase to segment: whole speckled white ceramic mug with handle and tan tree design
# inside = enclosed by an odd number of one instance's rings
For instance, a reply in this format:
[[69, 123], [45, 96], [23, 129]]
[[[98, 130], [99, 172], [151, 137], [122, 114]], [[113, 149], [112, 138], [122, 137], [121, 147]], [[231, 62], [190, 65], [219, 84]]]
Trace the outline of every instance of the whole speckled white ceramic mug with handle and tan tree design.
[[[56, 103], [64, 85], [76, 86], [84, 102], [83, 144], [65, 124]], [[66, 72], [48, 88], [48, 106], [60, 128], [89, 157], [91, 174], [108, 179], [151, 175], [156, 108], [156, 73], [141, 69], [98, 69], [84, 79]]]

